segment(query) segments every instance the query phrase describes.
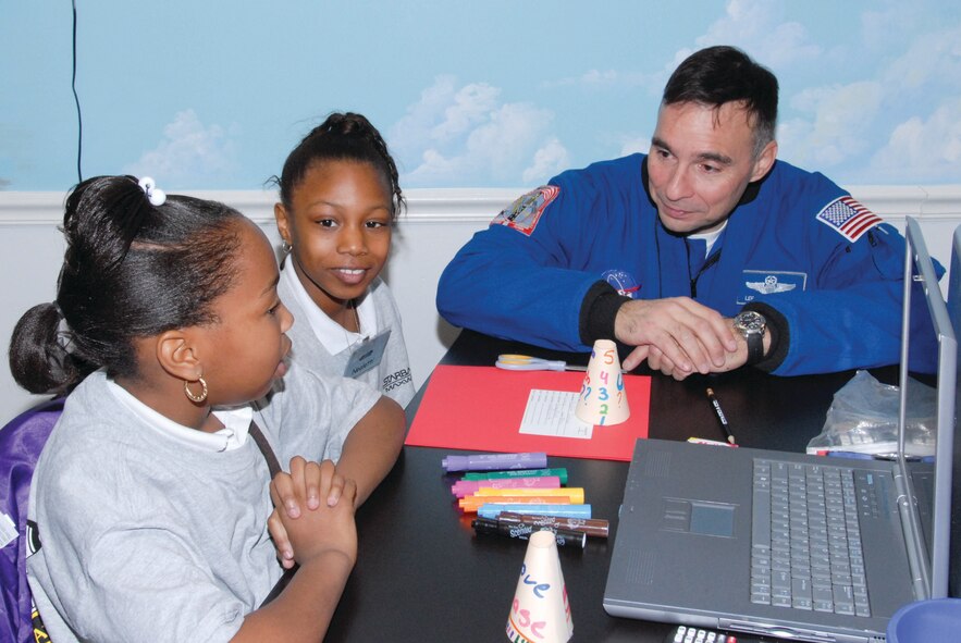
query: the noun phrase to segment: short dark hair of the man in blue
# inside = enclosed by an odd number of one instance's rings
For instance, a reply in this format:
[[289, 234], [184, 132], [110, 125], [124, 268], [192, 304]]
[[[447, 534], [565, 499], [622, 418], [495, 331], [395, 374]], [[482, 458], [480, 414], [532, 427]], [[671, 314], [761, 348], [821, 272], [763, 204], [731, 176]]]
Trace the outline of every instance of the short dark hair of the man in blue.
[[754, 129], [754, 156], [774, 140], [777, 78], [736, 47], [709, 47], [685, 59], [667, 79], [662, 99], [662, 104], [679, 102], [715, 109], [741, 102]]

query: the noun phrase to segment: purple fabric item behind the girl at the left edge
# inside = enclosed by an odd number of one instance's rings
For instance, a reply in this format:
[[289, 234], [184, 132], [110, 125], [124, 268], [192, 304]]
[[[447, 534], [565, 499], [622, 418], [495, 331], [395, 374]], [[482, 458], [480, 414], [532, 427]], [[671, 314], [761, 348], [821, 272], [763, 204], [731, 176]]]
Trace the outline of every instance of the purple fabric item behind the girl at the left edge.
[[[21, 413], [0, 429], [0, 514], [13, 521], [17, 534], [0, 548], [0, 641], [49, 640], [39, 617], [33, 614], [27, 585], [28, 541], [36, 536], [27, 531], [27, 502], [34, 467], [61, 411], [63, 398], [52, 399]], [[8, 518], [0, 516], [0, 520], [4, 523], [0, 533], [8, 534]], [[3, 541], [7, 540], [4, 536]], [[34, 545], [30, 552], [36, 551], [39, 541]], [[38, 630], [36, 638], [35, 629]]]

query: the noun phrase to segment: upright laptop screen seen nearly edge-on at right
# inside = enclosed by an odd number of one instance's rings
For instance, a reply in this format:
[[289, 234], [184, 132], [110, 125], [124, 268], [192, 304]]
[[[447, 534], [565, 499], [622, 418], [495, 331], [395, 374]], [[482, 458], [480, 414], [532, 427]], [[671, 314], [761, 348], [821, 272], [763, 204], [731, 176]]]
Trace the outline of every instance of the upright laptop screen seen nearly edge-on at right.
[[937, 362], [934, 373], [901, 369], [899, 425], [904, 430], [899, 435], [898, 450], [909, 456], [900, 459], [900, 468], [909, 496], [915, 499], [908, 523], [921, 535], [912, 539], [919, 544], [913, 556], [921, 562], [916, 581], [929, 597], [937, 598], [947, 596], [948, 591], [958, 343], [921, 227], [910, 217], [904, 236], [901, 364], [919, 368], [923, 361], [917, 358], [932, 350], [936, 350]]

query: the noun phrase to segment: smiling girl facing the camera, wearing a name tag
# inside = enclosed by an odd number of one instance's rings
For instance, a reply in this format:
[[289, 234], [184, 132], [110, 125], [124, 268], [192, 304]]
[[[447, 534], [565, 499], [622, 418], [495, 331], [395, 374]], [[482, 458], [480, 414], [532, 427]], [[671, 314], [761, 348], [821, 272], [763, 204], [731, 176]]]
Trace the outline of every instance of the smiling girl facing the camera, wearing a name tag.
[[294, 359], [414, 397], [397, 305], [380, 272], [405, 206], [397, 168], [360, 114], [333, 113], [284, 162], [274, 206], [287, 257], [278, 286], [294, 313]]

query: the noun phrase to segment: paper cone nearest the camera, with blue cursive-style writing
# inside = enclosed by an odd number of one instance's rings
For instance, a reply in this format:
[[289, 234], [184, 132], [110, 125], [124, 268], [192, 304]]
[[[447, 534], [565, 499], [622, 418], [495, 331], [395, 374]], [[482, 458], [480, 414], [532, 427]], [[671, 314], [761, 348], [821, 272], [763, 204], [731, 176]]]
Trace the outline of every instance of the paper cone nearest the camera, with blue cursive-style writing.
[[537, 531], [527, 543], [507, 617], [507, 639], [514, 643], [566, 643], [572, 634], [554, 532]]

